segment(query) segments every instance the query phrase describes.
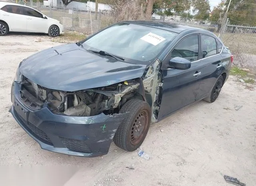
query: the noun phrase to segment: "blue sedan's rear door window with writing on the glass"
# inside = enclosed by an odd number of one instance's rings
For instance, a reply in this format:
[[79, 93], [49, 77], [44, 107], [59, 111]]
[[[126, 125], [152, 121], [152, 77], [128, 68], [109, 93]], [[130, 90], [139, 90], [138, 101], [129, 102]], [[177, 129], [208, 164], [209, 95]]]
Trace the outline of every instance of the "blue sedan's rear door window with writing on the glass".
[[215, 38], [202, 35], [203, 58], [217, 54], [217, 44]]

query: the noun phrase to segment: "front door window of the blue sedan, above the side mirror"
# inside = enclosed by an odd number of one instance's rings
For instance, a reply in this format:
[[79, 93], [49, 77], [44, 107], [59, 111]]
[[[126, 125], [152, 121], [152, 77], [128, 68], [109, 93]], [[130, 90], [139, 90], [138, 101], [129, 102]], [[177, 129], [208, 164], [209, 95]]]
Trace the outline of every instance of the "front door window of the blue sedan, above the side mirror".
[[171, 58], [182, 57], [189, 61], [198, 60], [198, 35], [188, 36], [173, 49]]

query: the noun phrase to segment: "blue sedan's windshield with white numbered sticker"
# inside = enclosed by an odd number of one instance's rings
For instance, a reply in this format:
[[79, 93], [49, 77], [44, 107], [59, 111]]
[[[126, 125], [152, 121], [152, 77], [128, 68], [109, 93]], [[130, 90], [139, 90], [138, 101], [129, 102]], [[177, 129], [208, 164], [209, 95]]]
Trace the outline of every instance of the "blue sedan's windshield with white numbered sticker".
[[119, 23], [99, 32], [82, 45], [87, 50], [105, 51], [123, 57], [126, 62], [148, 64], [177, 36], [176, 33]]

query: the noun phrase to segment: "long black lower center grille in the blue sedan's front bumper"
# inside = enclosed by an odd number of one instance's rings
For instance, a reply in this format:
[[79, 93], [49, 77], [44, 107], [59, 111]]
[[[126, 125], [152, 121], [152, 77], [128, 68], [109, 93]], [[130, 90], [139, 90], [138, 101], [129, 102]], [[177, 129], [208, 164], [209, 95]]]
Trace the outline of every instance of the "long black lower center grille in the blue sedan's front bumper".
[[22, 117], [20, 117], [20, 119], [22, 120], [22, 126], [26, 128], [26, 130], [33, 135], [34, 137], [36, 137], [38, 140], [44, 142], [45, 144], [51, 145], [53, 146], [51, 140], [48, 138], [48, 136], [46, 135], [46, 133], [44, 133], [44, 131], [42, 131], [41, 129], [37, 128], [36, 126], [34, 126], [32, 123], [30, 122], [26, 122]]

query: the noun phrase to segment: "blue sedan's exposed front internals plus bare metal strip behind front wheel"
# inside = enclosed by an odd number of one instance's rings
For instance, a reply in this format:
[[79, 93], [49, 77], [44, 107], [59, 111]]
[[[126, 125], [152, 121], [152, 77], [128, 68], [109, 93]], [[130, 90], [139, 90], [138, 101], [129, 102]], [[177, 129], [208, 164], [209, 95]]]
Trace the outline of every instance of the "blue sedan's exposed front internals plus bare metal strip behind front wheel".
[[22, 100], [34, 109], [47, 105], [53, 113], [69, 116], [94, 116], [118, 113], [129, 99], [141, 99], [152, 107], [152, 122], [157, 119], [160, 93], [160, 62], [156, 60], [144, 78], [127, 80], [106, 87], [67, 92], [41, 87], [22, 77]]

